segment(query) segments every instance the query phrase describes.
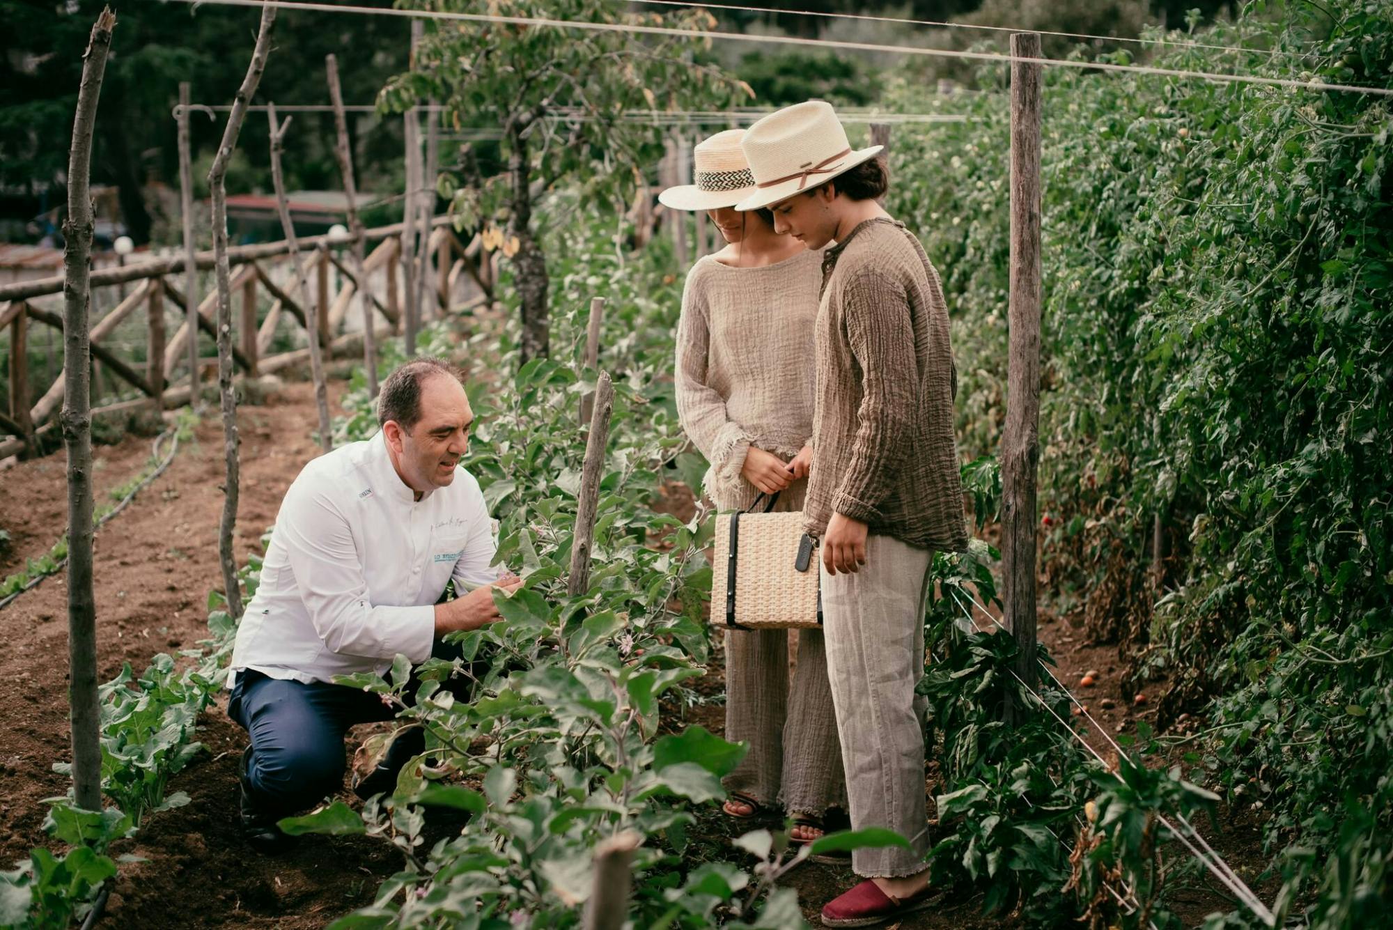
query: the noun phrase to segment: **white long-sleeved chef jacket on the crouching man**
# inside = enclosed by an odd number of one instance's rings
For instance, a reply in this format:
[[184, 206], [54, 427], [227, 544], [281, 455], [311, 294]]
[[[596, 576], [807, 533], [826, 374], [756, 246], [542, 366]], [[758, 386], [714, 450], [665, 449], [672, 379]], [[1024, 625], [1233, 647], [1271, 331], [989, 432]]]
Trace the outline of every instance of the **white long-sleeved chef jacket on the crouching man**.
[[446, 583], [497, 581], [493, 554], [483, 493], [462, 468], [418, 501], [382, 433], [320, 455], [281, 501], [228, 686], [244, 668], [327, 682], [382, 674], [397, 653], [425, 661]]

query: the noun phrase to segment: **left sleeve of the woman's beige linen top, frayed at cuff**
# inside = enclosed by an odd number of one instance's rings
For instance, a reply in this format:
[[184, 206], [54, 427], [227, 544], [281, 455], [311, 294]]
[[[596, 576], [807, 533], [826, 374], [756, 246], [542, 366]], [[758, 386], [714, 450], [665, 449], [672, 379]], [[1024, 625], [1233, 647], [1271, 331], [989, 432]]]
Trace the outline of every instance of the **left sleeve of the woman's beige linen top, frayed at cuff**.
[[687, 274], [677, 323], [677, 418], [712, 466], [719, 489], [741, 490], [752, 436], [726, 415], [726, 401], [709, 383], [710, 315], [696, 269]]

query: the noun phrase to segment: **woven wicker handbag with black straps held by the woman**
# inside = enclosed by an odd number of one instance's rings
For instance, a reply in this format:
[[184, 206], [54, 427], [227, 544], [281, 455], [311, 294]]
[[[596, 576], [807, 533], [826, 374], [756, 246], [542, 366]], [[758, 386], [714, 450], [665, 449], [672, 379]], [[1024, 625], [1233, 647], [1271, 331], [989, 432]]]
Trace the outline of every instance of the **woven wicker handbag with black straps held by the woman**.
[[816, 544], [802, 532], [802, 512], [772, 514], [779, 494], [763, 512], [716, 515], [712, 562], [710, 621], [733, 629], [822, 626]]

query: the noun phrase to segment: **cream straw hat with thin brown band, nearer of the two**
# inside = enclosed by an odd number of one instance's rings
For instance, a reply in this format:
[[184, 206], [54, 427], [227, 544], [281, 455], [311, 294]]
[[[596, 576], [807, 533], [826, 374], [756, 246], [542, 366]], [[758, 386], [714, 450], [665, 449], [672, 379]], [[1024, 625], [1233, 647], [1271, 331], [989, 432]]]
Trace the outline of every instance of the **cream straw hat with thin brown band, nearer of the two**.
[[853, 149], [832, 104], [808, 100], [776, 110], [745, 129], [740, 148], [755, 178], [755, 191], [736, 203], [756, 210], [846, 174], [885, 146]]

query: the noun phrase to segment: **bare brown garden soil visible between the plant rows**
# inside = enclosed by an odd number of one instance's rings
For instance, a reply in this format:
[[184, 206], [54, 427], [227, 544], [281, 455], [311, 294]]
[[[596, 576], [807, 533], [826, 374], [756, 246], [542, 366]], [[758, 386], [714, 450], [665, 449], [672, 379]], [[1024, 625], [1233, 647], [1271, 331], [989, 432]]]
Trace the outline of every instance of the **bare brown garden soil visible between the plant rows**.
[[[341, 384], [330, 384], [334, 409], [341, 391]], [[259, 549], [259, 537], [274, 522], [286, 489], [318, 447], [311, 440], [315, 412], [308, 384], [286, 384], [265, 405], [242, 407], [238, 415], [242, 483], [235, 550], [244, 554]], [[148, 437], [130, 436], [116, 446], [96, 447], [98, 498], [138, 475], [149, 455]], [[221, 425], [216, 411], [210, 411], [169, 471], [98, 532], [100, 681], [114, 678], [123, 663], [139, 672], [156, 653], [192, 649], [205, 638], [208, 592], [221, 586], [217, 565], [221, 479]], [[690, 517], [691, 496], [685, 489], [670, 486], [670, 490], [674, 493], [666, 494], [659, 507]], [[64, 532], [65, 494], [61, 452], [0, 472], [0, 528], [11, 533], [13, 542], [11, 551], [0, 561], [0, 574], [42, 554]], [[988, 621], [979, 622], [985, 626]], [[1126, 732], [1134, 728], [1138, 716], [1152, 713], [1146, 706], [1123, 700], [1121, 668], [1113, 647], [1087, 645], [1080, 631], [1061, 621], [1043, 622], [1041, 640], [1059, 659], [1056, 674], [1061, 681], [1077, 685], [1084, 671], [1099, 672], [1096, 685], [1075, 692], [1106, 728]], [[8, 867], [25, 859], [32, 846], [50, 842], [42, 828], [43, 799], [68, 788], [67, 778], [52, 771], [54, 762], [70, 755], [67, 606], [61, 574], [0, 610], [0, 642], [8, 645], [0, 652], [0, 706], [6, 709], [0, 727], [4, 778], [0, 867]], [[673, 724], [701, 724], [720, 734], [724, 684], [719, 647], [710, 672], [695, 684], [705, 700], [681, 710], [683, 720]], [[1103, 699], [1113, 707], [1105, 710]], [[357, 736], [365, 732], [366, 728], [359, 728]], [[288, 853], [273, 858], [252, 852], [238, 835], [235, 809], [237, 757], [247, 735], [228, 720], [226, 700], [205, 713], [199, 739], [203, 752], [169, 787], [171, 792], [185, 792], [189, 803], [150, 814], [132, 840], [116, 845], [113, 853], [143, 860], [121, 866], [102, 926], [322, 927], [369, 904], [379, 883], [401, 867], [394, 849], [365, 837], [305, 837]], [[1110, 746], [1096, 735], [1092, 741], [1110, 757]], [[925, 788], [932, 816], [936, 789], [932, 766]], [[741, 853], [729, 842], [752, 824], [724, 817], [715, 805], [696, 816], [698, 823], [688, 831], [692, 842], [688, 855], [738, 860]], [[451, 830], [457, 824], [428, 827], [435, 835]], [[1226, 824], [1224, 830], [1216, 846], [1240, 874], [1255, 877], [1263, 862], [1256, 827], [1240, 823]], [[807, 863], [788, 881], [797, 888], [807, 917], [818, 926], [820, 906], [850, 887], [854, 877], [844, 867]], [[1191, 923], [1224, 906], [1202, 887], [1188, 894], [1184, 904]], [[972, 930], [1011, 923], [1009, 917], [982, 917], [978, 901], [946, 897], [940, 906], [914, 915], [898, 927]]]

